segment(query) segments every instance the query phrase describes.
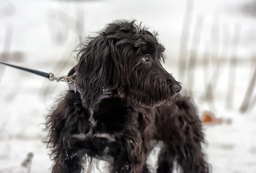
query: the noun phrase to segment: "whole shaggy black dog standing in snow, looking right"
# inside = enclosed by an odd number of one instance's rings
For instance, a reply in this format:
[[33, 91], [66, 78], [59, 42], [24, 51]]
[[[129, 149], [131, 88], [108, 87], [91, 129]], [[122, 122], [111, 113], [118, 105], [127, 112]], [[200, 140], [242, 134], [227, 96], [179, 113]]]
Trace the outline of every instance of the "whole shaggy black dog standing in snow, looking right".
[[84, 156], [108, 160], [111, 173], [147, 173], [151, 142], [163, 143], [157, 173], [209, 173], [202, 124], [182, 87], [161, 65], [157, 34], [116, 21], [78, 54], [76, 82], [47, 116], [52, 173], [80, 173]]

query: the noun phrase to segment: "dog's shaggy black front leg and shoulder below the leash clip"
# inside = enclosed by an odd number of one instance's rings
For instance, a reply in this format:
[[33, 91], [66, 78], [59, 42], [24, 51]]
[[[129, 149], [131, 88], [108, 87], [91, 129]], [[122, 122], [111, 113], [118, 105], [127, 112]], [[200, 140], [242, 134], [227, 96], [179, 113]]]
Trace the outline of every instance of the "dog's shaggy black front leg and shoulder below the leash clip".
[[89, 115], [82, 107], [81, 98], [69, 91], [51, 115], [47, 116], [45, 141], [51, 149], [54, 167], [52, 173], [80, 173], [83, 145], [79, 145], [73, 135], [89, 131]]

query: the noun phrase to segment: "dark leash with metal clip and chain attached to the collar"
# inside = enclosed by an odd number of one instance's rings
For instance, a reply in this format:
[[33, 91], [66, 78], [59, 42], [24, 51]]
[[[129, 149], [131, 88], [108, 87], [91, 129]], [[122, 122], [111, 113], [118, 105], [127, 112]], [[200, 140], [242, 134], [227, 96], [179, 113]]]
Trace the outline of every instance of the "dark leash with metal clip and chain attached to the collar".
[[29, 72], [29, 73], [32, 73], [32, 74], [35, 74], [35, 75], [39, 75], [39, 76], [44, 77], [44, 78], [48, 78], [50, 81], [66, 82], [70, 90], [73, 90], [74, 92], [79, 92], [81, 94], [81, 91], [79, 89], [77, 89], [76, 81], [73, 79], [74, 74], [76, 72], [75, 67], [73, 67], [68, 72], [67, 76], [56, 77], [52, 72], [49, 72], [49, 73], [42, 72], [42, 71], [35, 70], [35, 69], [29, 69], [29, 68], [25, 68], [25, 67], [21, 67], [21, 66], [12, 65], [12, 64], [9, 64], [9, 63], [0, 62], [0, 64], [10, 66], [10, 67], [13, 67], [15, 69], [20, 69], [20, 70], [23, 70], [25, 72]]

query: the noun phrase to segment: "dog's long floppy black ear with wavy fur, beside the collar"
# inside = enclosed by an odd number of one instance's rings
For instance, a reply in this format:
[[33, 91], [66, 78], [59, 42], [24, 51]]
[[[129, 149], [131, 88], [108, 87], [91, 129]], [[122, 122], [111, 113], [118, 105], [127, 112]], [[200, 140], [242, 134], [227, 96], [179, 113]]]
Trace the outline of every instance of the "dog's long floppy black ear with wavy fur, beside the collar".
[[[76, 66], [76, 82], [82, 90], [84, 106], [94, 107], [98, 104], [103, 89], [108, 87], [115, 63], [115, 45], [102, 35], [89, 38], [87, 44], [80, 50]], [[113, 81], [111, 82], [113, 83]]]

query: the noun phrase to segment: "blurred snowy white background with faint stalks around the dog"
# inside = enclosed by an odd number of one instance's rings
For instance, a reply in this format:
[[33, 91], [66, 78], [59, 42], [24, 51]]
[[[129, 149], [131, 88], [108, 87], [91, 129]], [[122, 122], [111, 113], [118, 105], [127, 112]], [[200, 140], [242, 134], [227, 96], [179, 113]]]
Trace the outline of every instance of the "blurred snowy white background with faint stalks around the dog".
[[[256, 173], [256, 0], [0, 0], [0, 61], [66, 75], [84, 37], [116, 19], [158, 31], [163, 66], [198, 105], [212, 172]], [[25, 173], [29, 152], [31, 173], [50, 172], [42, 123], [66, 90], [0, 65], [0, 173]]]

